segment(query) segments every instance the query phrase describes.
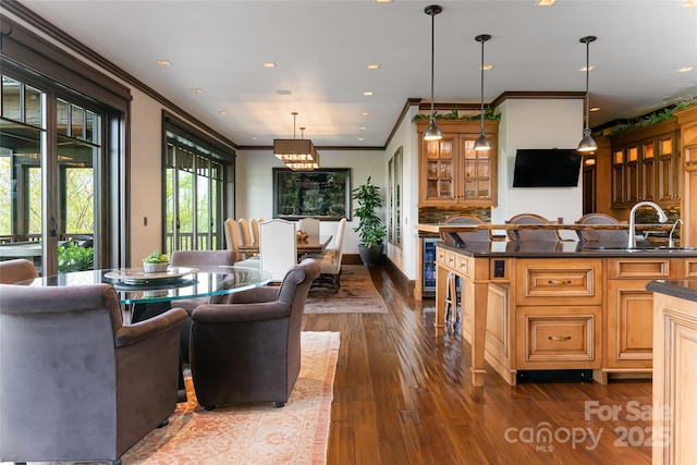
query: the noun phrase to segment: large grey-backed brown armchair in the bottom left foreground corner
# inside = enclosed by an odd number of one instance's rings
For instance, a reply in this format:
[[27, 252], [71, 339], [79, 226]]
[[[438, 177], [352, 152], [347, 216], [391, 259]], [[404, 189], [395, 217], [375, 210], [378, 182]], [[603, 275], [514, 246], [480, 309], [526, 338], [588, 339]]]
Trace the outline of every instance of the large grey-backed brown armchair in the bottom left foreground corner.
[[109, 284], [0, 284], [0, 462], [121, 462], [176, 406], [171, 309], [124, 326]]

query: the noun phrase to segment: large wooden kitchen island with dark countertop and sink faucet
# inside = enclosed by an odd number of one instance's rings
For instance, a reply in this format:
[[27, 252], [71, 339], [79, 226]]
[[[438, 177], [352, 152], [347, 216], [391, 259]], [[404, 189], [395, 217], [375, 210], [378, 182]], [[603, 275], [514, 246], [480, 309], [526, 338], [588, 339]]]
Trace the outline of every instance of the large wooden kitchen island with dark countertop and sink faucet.
[[[461, 328], [472, 344], [473, 383], [485, 359], [510, 384], [518, 371], [592, 370], [650, 377], [649, 281], [697, 278], [697, 249], [627, 249], [622, 244], [487, 242], [436, 245], [436, 326], [449, 276], [461, 279]], [[452, 289], [452, 287], [451, 287]], [[453, 296], [449, 296], [451, 301]]]

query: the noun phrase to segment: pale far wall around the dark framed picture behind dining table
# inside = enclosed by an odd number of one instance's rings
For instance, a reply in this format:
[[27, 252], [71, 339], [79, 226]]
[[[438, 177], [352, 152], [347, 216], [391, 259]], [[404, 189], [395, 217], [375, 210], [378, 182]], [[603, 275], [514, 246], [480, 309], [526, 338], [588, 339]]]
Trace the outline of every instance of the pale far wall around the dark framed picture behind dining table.
[[[322, 168], [351, 168], [352, 189], [371, 176], [387, 199], [387, 161], [382, 150], [318, 150]], [[273, 218], [273, 180], [271, 169], [283, 168], [283, 163], [271, 150], [240, 150], [236, 158], [235, 216], [237, 218]], [[353, 204], [353, 201], [352, 201]], [[352, 207], [353, 211], [353, 207]], [[386, 211], [379, 212], [386, 219]], [[358, 253], [358, 235], [353, 229], [358, 224], [355, 218], [346, 221], [344, 254]], [[333, 234], [337, 222], [322, 222], [320, 233]]]

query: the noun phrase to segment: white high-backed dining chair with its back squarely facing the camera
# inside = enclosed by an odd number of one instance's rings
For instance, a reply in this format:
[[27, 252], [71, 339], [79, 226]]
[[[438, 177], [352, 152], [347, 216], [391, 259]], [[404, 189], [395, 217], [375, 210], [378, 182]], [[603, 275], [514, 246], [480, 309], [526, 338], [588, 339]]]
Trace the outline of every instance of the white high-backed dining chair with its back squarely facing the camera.
[[259, 224], [259, 261], [260, 269], [270, 272], [273, 282], [280, 282], [297, 264], [294, 222], [277, 218]]

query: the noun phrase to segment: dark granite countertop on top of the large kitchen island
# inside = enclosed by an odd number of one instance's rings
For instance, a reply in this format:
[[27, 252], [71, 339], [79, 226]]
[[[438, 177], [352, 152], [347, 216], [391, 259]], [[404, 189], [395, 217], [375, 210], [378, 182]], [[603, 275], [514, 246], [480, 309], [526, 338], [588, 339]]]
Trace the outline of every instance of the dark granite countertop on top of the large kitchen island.
[[603, 257], [697, 257], [697, 248], [647, 247], [627, 249], [626, 244], [600, 242], [469, 242], [457, 247], [443, 242], [438, 246], [473, 257], [521, 258], [603, 258]]

